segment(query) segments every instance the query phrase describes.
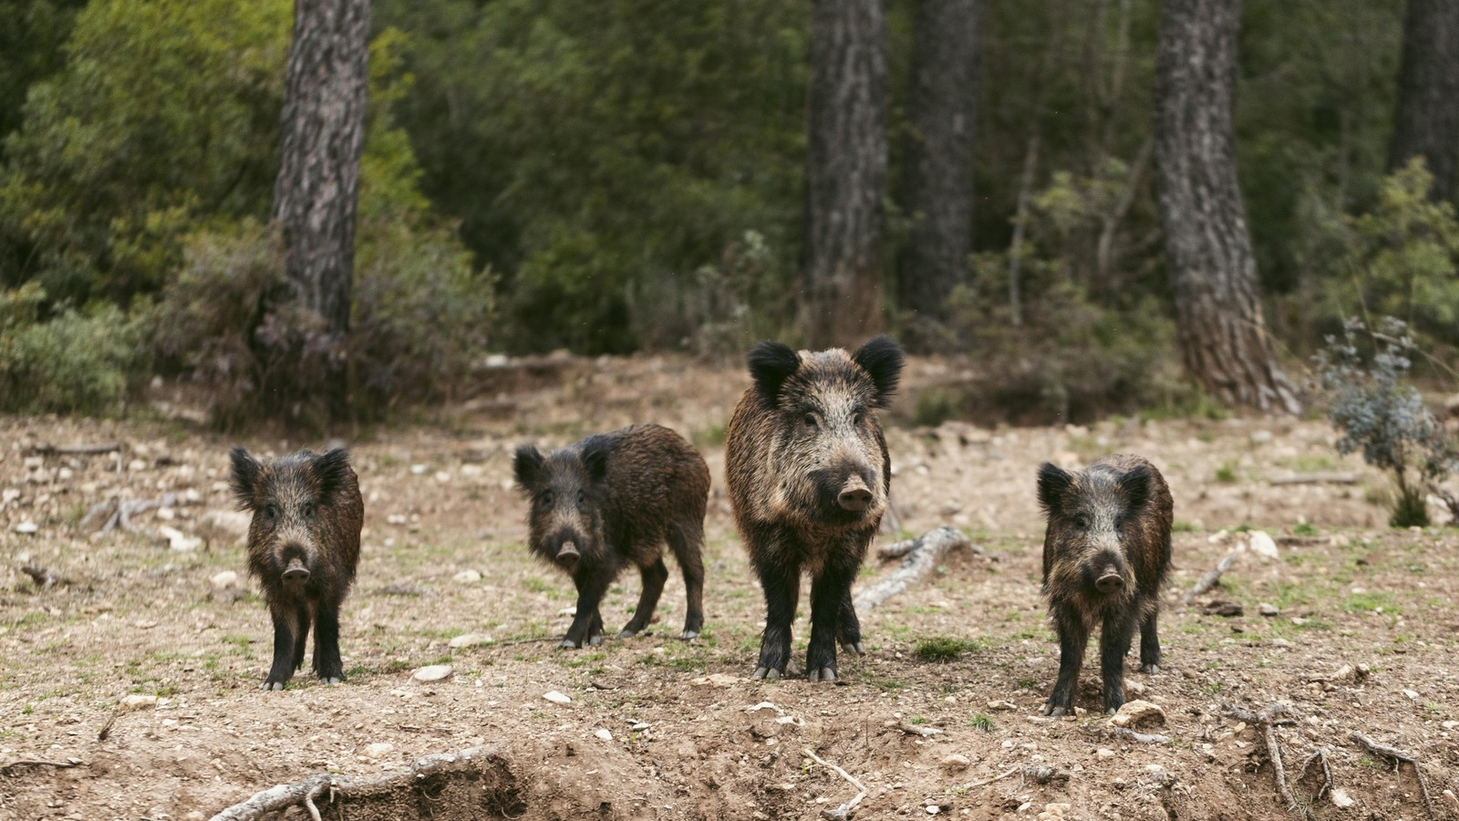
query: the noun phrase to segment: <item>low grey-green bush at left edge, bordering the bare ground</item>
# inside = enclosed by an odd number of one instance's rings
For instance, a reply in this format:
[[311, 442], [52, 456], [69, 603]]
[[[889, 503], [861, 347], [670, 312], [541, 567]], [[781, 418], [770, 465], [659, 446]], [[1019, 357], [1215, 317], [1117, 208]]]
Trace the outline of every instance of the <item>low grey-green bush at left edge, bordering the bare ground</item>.
[[0, 291], [0, 410], [117, 410], [144, 365], [143, 321], [115, 305], [42, 318], [45, 291]]

